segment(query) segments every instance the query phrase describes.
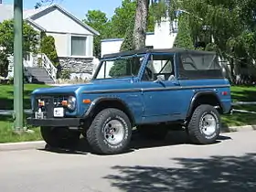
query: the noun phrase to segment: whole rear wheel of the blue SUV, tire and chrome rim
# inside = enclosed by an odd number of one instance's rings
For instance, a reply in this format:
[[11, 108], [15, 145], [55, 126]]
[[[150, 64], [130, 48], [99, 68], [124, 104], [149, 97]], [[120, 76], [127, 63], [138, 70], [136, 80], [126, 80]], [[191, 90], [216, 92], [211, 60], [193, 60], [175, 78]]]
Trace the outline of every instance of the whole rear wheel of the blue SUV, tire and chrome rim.
[[213, 144], [221, 129], [219, 112], [211, 105], [199, 105], [187, 125], [187, 134], [195, 144]]

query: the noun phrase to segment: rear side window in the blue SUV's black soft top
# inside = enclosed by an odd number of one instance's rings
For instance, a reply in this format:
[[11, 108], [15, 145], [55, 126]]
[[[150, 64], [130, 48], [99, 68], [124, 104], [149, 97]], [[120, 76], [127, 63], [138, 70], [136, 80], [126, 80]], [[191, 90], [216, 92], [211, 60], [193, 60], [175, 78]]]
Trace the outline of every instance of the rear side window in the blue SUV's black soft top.
[[210, 53], [185, 52], [179, 56], [179, 79], [223, 78], [217, 55]]

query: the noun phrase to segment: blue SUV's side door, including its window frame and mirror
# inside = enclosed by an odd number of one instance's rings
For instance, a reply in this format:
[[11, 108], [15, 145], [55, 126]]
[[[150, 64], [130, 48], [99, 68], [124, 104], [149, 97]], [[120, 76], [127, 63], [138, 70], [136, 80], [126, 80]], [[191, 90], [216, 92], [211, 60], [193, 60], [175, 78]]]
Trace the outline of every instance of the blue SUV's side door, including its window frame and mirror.
[[161, 121], [179, 119], [181, 86], [176, 80], [175, 55], [152, 54], [142, 76], [144, 118], [160, 118]]

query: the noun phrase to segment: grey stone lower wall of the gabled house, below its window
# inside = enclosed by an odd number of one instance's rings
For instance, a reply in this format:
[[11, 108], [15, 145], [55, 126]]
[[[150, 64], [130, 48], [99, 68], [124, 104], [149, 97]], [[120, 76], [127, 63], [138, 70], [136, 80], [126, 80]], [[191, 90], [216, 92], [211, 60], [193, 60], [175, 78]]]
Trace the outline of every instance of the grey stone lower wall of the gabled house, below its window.
[[75, 77], [90, 79], [99, 60], [95, 58], [59, 58], [59, 64], [61, 69], [70, 71], [71, 79]]

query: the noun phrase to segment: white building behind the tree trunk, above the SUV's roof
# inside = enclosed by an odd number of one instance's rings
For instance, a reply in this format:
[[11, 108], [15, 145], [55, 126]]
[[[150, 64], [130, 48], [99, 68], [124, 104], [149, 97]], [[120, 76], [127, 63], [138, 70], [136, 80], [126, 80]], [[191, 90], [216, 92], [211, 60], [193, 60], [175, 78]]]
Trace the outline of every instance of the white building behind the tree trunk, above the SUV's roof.
[[[177, 22], [168, 18], [155, 24], [155, 31], [146, 34], [145, 46], [151, 48], [173, 48], [177, 35]], [[101, 56], [119, 52], [123, 38], [107, 38], [101, 40]]]

